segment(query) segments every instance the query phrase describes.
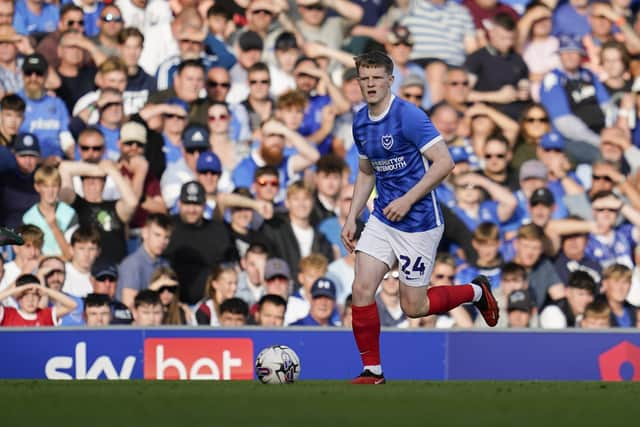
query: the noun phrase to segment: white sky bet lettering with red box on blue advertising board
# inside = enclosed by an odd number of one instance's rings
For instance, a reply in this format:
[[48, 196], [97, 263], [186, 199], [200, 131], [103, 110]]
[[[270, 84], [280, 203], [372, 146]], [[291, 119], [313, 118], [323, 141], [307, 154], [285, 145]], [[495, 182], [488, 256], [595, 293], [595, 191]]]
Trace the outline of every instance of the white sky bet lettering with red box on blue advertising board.
[[87, 353], [85, 341], [76, 343], [72, 354], [46, 361], [45, 376], [125, 380], [132, 378], [136, 363], [143, 362], [145, 379], [253, 379], [253, 342], [249, 338], [148, 338], [144, 341], [143, 360], [127, 355], [121, 364], [114, 363], [108, 355], [89, 359]]

